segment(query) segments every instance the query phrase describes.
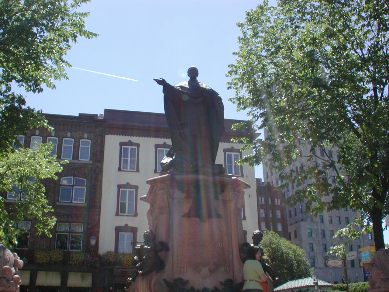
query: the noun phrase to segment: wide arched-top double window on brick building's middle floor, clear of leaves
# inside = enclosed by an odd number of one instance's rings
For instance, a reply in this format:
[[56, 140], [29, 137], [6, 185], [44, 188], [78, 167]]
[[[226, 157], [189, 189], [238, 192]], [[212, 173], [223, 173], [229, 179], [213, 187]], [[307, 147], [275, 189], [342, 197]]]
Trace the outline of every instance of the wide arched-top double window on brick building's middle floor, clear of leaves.
[[86, 179], [61, 178], [60, 202], [85, 203]]

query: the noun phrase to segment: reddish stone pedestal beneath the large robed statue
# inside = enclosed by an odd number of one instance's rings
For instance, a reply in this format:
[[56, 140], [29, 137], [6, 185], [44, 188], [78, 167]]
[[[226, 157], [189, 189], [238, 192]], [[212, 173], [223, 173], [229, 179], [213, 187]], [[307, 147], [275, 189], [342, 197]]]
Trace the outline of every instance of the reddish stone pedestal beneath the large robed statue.
[[[169, 252], [160, 253], [165, 269], [138, 276], [135, 291], [166, 291], [162, 279], [189, 280], [197, 289], [219, 287], [230, 278], [241, 281], [243, 264], [239, 246], [244, 242], [241, 211], [244, 189], [250, 186], [232, 175], [179, 176], [164, 174], [147, 181], [142, 201], [149, 228], [156, 241], [165, 241]], [[137, 288], [138, 286], [138, 288]], [[140, 290], [141, 289], [141, 290]], [[132, 290], [132, 289], [131, 289]]]

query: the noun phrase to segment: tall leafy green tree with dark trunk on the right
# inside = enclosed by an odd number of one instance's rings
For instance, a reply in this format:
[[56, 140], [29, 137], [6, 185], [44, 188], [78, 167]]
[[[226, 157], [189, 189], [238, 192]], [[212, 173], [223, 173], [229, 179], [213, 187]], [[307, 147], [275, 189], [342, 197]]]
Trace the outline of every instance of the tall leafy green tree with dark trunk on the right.
[[[231, 100], [254, 130], [269, 133], [240, 139], [254, 151], [243, 162], [272, 165], [281, 188], [301, 186], [288, 202], [306, 201], [315, 215], [359, 210], [356, 224], [368, 231], [372, 223], [376, 248], [384, 247], [389, 213], [388, 12], [384, 0], [279, 0], [278, 7], [265, 0], [238, 23], [240, 47], [228, 72]], [[311, 151], [308, 163], [287, 171], [299, 158], [298, 141]], [[339, 160], [328, 151], [335, 146]], [[360, 235], [349, 227], [349, 238]]]

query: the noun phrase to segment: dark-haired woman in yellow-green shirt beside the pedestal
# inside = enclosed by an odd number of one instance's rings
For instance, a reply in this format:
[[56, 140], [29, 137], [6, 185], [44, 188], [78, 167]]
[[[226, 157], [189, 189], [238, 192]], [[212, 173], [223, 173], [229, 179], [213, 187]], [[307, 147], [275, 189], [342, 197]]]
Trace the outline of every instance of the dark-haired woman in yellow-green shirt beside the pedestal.
[[[243, 265], [244, 286], [243, 292], [266, 292], [267, 276], [263, 271], [262, 265], [259, 262], [261, 250], [259, 246], [249, 246], [247, 249], [247, 260]], [[262, 284], [263, 283], [263, 284]]]

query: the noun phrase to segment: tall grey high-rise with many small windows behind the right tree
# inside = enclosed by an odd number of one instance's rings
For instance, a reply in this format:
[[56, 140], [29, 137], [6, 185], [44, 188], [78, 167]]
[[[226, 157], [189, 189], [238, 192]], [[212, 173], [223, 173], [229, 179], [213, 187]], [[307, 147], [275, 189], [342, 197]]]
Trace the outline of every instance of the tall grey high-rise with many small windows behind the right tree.
[[[268, 132], [265, 130], [266, 137], [268, 137]], [[320, 158], [324, 158], [325, 155], [333, 157], [335, 161], [339, 159], [337, 148], [325, 148], [325, 150], [316, 150], [316, 157], [311, 162], [308, 162], [310, 146], [300, 142], [297, 145], [300, 156], [287, 167], [286, 172], [296, 173], [300, 171], [301, 167], [308, 165], [308, 163], [316, 167], [323, 167]], [[278, 173], [271, 169], [270, 165], [263, 165], [264, 180], [273, 186], [280, 186], [282, 179], [279, 178]], [[335, 170], [328, 169], [327, 171], [328, 182], [335, 184]], [[304, 185], [309, 183], [312, 183], [312, 181], [306, 180]], [[291, 184], [283, 189], [285, 197], [290, 197], [297, 190], [302, 189], [304, 185], [296, 186]], [[331, 196], [328, 194], [324, 195], [322, 200], [329, 202], [331, 201]], [[307, 208], [308, 206], [305, 202], [299, 202], [295, 206], [286, 206], [289, 240], [305, 250], [307, 260], [310, 266], [314, 268], [314, 274], [317, 278], [331, 283], [342, 283], [342, 268], [327, 266], [327, 260], [332, 258], [331, 255], [327, 255], [327, 252], [338, 240], [332, 238], [335, 232], [351, 223], [358, 213], [356, 210], [347, 207], [342, 210], [324, 211], [315, 218], [309, 213], [310, 210], [307, 210]], [[352, 242], [352, 245], [349, 246], [346, 252], [352, 250], [359, 251], [361, 247], [373, 245], [372, 234], [363, 234], [360, 239]], [[360, 259], [361, 255], [358, 253], [357, 259], [346, 261], [349, 282], [363, 281], [363, 269], [359, 264]]]

